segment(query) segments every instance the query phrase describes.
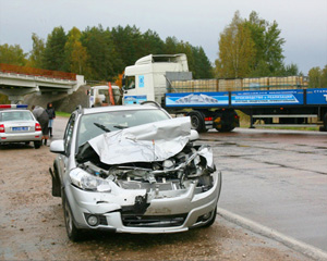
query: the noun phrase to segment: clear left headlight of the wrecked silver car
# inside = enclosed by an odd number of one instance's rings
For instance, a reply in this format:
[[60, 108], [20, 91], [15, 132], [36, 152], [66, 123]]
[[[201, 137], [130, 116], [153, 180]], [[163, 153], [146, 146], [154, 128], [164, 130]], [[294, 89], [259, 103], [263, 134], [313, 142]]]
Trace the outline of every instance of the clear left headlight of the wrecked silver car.
[[78, 167], [70, 172], [70, 177], [72, 184], [74, 184], [78, 188], [99, 192], [111, 191], [111, 187], [108, 181], [90, 175]]

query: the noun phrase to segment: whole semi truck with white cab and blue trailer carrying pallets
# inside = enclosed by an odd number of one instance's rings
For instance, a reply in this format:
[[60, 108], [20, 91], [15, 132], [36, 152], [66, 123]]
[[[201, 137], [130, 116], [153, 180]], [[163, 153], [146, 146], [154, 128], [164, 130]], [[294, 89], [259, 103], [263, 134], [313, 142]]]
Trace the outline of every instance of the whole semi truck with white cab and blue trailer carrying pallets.
[[172, 114], [191, 117], [197, 132], [239, 126], [320, 126], [327, 130], [327, 88], [308, 88], [304, 76], [193, 79], [187, 58], [149, 54], [125, 67], [123, 104], [154, 101]]

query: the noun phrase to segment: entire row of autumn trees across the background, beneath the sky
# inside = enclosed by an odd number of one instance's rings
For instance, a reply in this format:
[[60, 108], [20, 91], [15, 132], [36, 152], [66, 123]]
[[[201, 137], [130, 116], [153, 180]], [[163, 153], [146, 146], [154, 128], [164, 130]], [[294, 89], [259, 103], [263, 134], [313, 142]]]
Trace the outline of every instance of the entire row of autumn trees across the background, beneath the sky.
[[[244, 78], [303, 75], [296, 64], [284, 64], [286, 39], [276, 21], [252, 12], [242, 18], [237, 11], [219, 36], [217, 60], [210, 63], [202, 47], [156, 32], [142, 33], [134, 26], [101, 26], [68, 33], [59, 26], [47, 39], [32, 35], [33, 49], [25, 53], [19, 45], [0, 46], [0, 63], [82, 74], [87, 80], [113, 82], [128, 65], [147, 54], [187, 55], [194, 78]], [[308, 72], [310, 87], [327, 87], [327, 65]]]

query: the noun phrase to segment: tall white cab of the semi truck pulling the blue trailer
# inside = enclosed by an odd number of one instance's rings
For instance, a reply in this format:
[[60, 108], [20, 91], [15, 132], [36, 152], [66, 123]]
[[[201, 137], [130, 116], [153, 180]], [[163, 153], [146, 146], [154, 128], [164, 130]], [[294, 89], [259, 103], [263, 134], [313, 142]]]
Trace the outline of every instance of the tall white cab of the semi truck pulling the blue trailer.
[[187, 58], [180, 54], [149, 54], [125, 69], [123, 104], [152, 100], [161, 103], [170, 79], [192, 79]]

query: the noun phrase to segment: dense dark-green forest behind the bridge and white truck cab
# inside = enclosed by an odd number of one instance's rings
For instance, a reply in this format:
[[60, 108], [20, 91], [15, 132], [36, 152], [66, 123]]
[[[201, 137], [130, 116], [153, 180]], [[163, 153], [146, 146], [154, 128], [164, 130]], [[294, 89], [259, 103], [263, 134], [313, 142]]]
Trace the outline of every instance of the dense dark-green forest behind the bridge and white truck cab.
[[84, 75], [89, 80], [114, 80], [124, 67], [148, 54], [185, 53], [194, 78], [214, 77], [209, 59], [202, 47], [179, 41], [175, 37], [162, 40], [156, 32], [142, 33], [134, 26], [101, 25], [68, 33], [59, 26], [47, 40], [32, 35], [33, 49], [25, 53], [19, 45], [0, 46], [0, 62], [21, 66], [62, 71]]

